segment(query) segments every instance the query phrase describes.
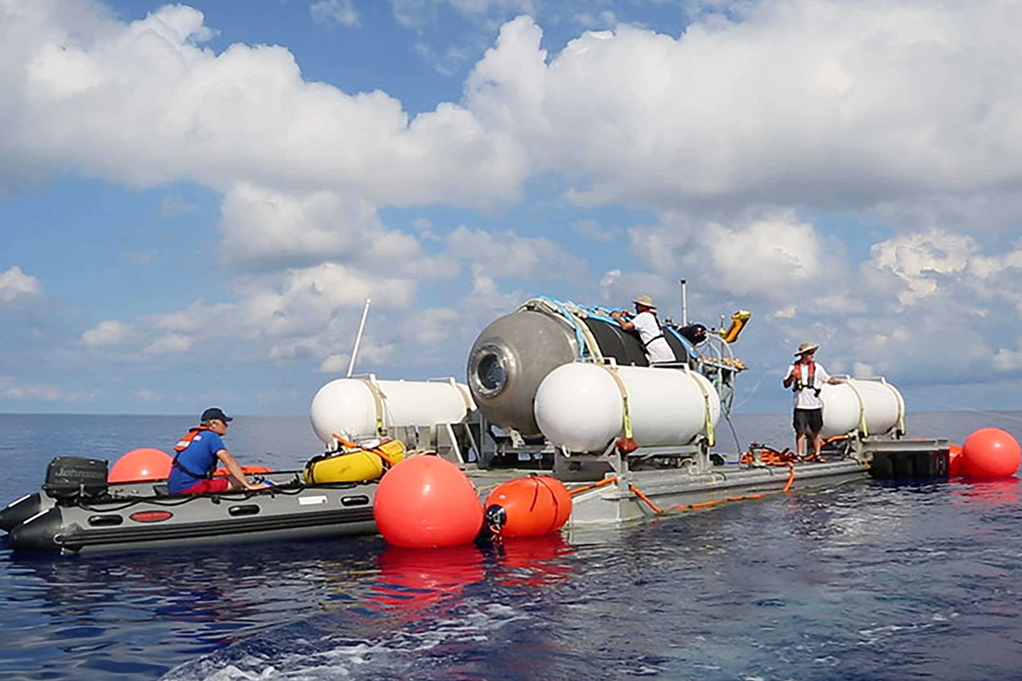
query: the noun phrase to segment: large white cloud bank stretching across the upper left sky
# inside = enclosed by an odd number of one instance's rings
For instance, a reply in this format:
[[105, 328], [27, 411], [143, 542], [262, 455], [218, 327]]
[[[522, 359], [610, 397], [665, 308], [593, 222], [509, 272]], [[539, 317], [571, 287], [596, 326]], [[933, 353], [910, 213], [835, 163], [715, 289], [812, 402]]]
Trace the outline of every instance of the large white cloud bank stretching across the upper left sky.
[[[303, 80], [284, 48], [220, 54], [201, 12], [122, 23], [53, 2], [0, 7], [0, 184], [76, 169], [133, 186], [182, 179], [346, 190], [377, 203], [518, 196], [525, 157], [457, 104], [414, 117], [383, 92]], [[92, 10], [91, 20], [78, 14]]]

